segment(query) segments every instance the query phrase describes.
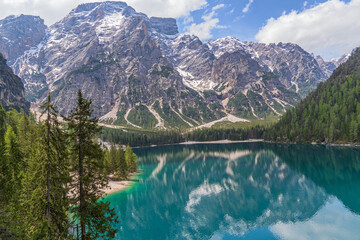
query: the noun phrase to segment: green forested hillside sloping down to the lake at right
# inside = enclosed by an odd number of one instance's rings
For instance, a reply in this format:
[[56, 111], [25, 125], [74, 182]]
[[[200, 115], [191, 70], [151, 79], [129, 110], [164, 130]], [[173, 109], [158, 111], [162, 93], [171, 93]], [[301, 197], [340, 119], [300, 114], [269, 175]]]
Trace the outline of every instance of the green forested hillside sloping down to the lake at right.
[[360, 48], [325, 82], [266, 131], [289, 142], [360, 142]]

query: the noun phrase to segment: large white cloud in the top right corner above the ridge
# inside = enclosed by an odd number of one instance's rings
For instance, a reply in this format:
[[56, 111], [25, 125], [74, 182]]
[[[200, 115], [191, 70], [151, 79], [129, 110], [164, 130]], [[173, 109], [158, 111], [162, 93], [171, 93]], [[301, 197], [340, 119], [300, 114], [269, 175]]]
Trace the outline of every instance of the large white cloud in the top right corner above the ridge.
[[293, 42], [325, 59], [360, 46], [360, 0], [329, 0], [302, 12], [268, 19], [256, 34], [259, 42]]

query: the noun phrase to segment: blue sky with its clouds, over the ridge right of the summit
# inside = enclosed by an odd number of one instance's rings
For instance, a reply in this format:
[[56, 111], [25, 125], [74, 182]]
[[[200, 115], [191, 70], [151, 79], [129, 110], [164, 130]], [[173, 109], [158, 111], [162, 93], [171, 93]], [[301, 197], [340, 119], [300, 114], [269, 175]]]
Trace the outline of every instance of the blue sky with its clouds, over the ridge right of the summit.
[[297, 43], [329, 60], [360, 46], [359, 15], [360, 0], [208, 0], [178, 25], [203, 40]]

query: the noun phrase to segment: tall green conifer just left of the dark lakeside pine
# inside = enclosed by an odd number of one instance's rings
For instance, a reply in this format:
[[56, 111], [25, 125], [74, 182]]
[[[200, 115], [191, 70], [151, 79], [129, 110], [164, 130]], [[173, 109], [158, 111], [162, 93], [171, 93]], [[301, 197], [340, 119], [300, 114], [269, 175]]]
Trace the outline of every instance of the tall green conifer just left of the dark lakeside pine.
[[[24, 205], [36, 211], [27, 219], [28, 233], [31, 233], [32, 229], [42, 229], [48, 239], [65, 238], [69, 207], [66, 196], [68, 190], [65, 186], [70, 182], [66, 139], [58, 122], [58, 112], [51, 103], [50, 94], [41, 109], [46, 120], [39, 126], [37, 136], [29, 136], [31, 133], [27, 130], [29, 134], [26, 137], [26, 139], [36, 137], [41, 139], [39, 151], [31, 152], [30, 149], [26, 151], [32, 153], [30, 159], [33, 161], [29, 161], [30, 171], [27, 172], [24, 186], [25, 192], [31, 194], [29, 199], [24, 197], [26, 199]], [[26, 115], [24, 118], [26, 119]], [[24, 122], [28, 123], [28, 121]], [[20, 121], [20, 127], [22, 125]], [[21, 129], [19, 128], [19, 132], [24, 132]], [[25, 143], [22, 145], [24, 146]], [[38, 223], [42, 227], [36, 225]], [[37, 233], [39, 232], [35, 231], [31, 235]]]

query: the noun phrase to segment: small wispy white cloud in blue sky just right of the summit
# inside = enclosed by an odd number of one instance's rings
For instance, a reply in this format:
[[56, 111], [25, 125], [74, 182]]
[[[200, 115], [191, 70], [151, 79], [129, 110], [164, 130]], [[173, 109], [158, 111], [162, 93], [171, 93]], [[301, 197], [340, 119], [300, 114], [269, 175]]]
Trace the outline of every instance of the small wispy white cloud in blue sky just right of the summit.
[[216, 5], [211, 9], [211, 12], [202, 16], [204, 22], [199, 24], [191, 24], [190, 26], [185, 27], [185, 30], [190, 34], [198, 36], [200, 39], [209, 39], [212, 37], [211, 30], [216, 28], [225, 28], [225, 26], [219, 25], [219, 18], [216, 18], [216, 11], [220, 8], [223, 8], [224, 4]]

